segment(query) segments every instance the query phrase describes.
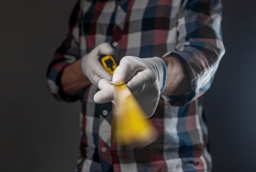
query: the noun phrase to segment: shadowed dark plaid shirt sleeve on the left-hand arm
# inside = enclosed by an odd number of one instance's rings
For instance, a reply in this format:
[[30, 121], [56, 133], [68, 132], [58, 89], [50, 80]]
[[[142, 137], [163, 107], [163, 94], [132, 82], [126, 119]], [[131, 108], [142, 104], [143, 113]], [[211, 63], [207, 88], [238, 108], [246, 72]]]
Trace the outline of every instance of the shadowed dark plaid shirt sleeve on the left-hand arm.
[[80, 57], [79, 50], [79, 15], [80, 0], [76, 3], [69, 20], [69, 29], [66, 39], [57, 48], [54, 58], [47, 70], [47, 84], [49, 91], [57, 100], [76, 101], [81, 95], [69, 96], [61, 87], [61, 75], [63, 69], [74, 63]]

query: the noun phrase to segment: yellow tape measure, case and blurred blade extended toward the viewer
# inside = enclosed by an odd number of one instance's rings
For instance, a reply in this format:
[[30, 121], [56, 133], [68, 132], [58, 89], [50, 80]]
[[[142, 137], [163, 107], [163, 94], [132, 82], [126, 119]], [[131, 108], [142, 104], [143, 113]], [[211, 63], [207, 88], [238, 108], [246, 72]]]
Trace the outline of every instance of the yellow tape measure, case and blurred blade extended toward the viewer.
[[[105, 69], [113, 75], [117, 63], [112, 56], [99, 58]], [[124, 146], [146, 146], [157, 138], [157, 130], [124, 83], [115, 85], [116, 106], [113, 108], [112, 136]]]

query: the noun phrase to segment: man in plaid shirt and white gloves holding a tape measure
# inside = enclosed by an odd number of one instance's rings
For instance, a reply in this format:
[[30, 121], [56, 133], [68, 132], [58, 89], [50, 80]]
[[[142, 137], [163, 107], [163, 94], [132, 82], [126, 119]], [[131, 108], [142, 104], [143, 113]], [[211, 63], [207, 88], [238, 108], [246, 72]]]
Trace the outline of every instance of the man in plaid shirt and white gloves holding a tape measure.
[[[202, 99], [225, 53], [221, 8], [220, 0], [77, 2], [47, 72], [56, 99], [81, 101], [77, 172], [211, 170]], [[113, 77], [101, 54], [119, 63]], [[111, 139], [113, 85], [122, 83], [159, 133], [143, 148]]]

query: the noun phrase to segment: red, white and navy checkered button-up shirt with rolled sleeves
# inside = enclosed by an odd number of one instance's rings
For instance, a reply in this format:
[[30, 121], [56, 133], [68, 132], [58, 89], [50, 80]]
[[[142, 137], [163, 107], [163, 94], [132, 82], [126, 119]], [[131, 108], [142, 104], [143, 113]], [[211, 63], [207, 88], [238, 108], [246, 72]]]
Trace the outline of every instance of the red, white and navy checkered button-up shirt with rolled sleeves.
[[[220, 0], [79, 0], [69, 32], [56, 50], [47, 83], [58, 100], [81, 101], [81, 157], [76, 172], [205, 172], [211, 170], [203, 94], [225, 53]], [[66, 65], [108, 42], [116, 61], [126, 55], [180, 60], [191, 91], [161, 96], [150, 118], [158, 139], [145, 148], [124, 147], [111, 138], [111, 103], [96, 104], [97, 88], [68, 96], [61, 87]]]

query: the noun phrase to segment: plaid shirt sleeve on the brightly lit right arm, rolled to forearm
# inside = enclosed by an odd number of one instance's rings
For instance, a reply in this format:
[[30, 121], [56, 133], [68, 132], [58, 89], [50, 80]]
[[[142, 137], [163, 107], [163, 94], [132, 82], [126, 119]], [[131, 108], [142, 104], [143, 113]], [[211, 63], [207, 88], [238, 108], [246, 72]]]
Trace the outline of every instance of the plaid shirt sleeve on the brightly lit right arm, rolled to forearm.
[[220, 27], [222, 4], [220, 0], [184, 0], [177, 18], [176, 51], [164, 57], [179, 59], [190, 79], [191, 90], [188, 93], [167, 96], [171, 105], [180, 106], [209, 89], [225, 53]]

